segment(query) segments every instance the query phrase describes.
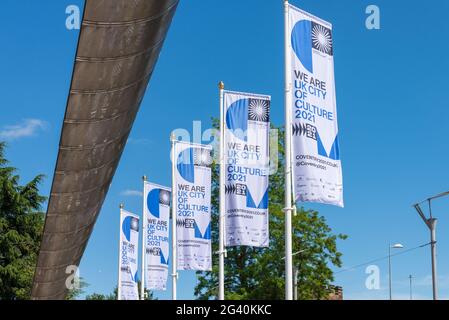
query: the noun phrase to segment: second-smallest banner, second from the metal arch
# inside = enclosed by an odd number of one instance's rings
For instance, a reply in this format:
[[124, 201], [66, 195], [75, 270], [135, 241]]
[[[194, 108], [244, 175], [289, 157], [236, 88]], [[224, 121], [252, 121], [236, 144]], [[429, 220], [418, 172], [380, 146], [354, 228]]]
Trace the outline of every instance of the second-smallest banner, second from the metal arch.
[[166, 290], [169, 260], [171, 190], [144, 183], [145, 288]]

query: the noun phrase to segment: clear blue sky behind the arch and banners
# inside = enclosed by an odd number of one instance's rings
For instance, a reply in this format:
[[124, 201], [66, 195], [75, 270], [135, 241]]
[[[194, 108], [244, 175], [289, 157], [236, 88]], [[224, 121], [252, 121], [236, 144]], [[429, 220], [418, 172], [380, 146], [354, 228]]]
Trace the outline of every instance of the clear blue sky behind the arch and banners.
[[[449, 2], [292, 1], [333, 23], [344, 209], [307, 204], [324, 215], [339, 243], [344, 267], [384, 257], [389, 242], [412, 248], [429, 234], [411, 205], [449, 189]], [[65, 27], [65, 8], [80, 0], [4, 0], [0, 11], [0, 140], [23, 182], [44, 173], [48, 195], [70, 86], [78, 31]], [[365, 28], [365, 8], [381, 10], [381, 29]], [[170, 183], [169, 135], [209, 128], [218, 116], [217, 83], [272, 95], [272, 121], [283, 119], [283, 15], [280, 0], [181, 1], [147, 94], [88, 248], [81, 275], [87, 292], [116, 285], [118, 205], [140, 213], [141, 176]], [[126, 192], [128, 191], [128, 192]], [[440, 296], [449, 298], [449, 198], [434, 203]], [[396, 298], [431, 298], [430, 252], [393, 258]], [[365, 268], [336, 274], [347, 299], [384, 299], [387, 261], [375, 263], [380, 290], [365, 287]], [[336, 270], [338, 271], [338, 270]], [[193, 298], [195, 275], [181, 272], [179, 298]], [[160, 299], [170, 297], [157, 292]]]

